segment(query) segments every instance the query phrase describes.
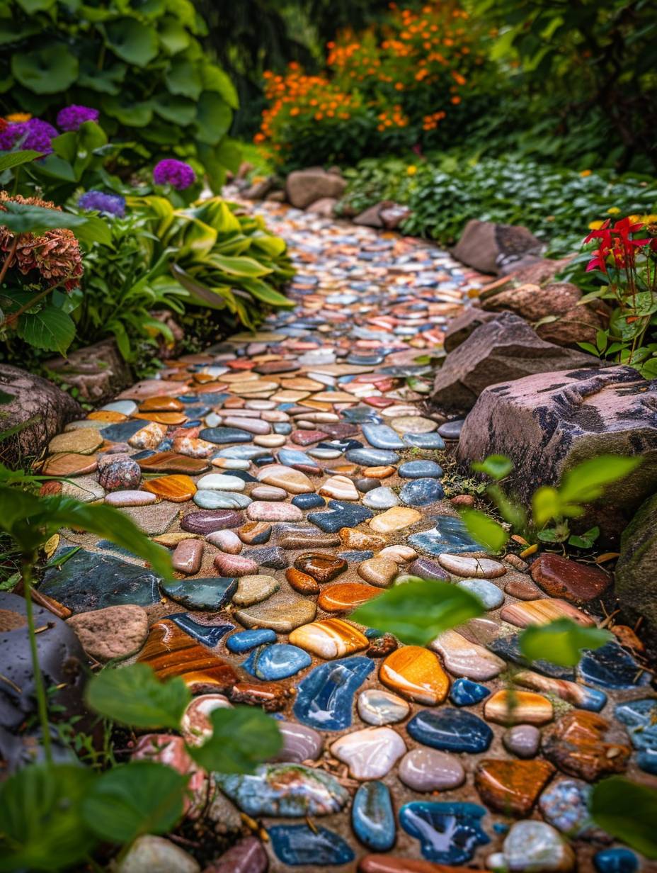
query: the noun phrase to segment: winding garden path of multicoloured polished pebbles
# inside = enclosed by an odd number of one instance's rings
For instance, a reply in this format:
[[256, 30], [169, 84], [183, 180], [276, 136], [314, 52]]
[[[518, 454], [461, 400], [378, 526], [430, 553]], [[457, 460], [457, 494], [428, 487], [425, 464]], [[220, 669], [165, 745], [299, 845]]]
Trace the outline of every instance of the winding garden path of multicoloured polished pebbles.
[[[649, 676], [617, 643], [576, 671], [530, 667], [517, 649], [530, 622], [599, 620], [606, 574], [477, 554], [441, 485], [458, 424], [409, 387], [477, 277], [428, 244], [258, 209], [291, 242], [296, 309], [170, 361], [70, 424], [44, 465], [168, 546], [176, 580], [65, 531], [60, 554], [82, 547], [41, 593], [100, 660], [139, 651], [185, 677], [200, 692], [189, 736], [236, 702], [280, 719], [280, 760], [192, 778], [190, 815], [210, 784], [203, 815], [220, 831], [266, 835], [221, 870], [654, 870], [585, 811], [593, 780], [657, 773]], [[426, 649], [349, 622], [405, 574], [469, 588], [488, 612]], [[112, 621], [119, 643], [98, 630]], [[188, 766], [175, 738], [147, 736], [135, 754]]]

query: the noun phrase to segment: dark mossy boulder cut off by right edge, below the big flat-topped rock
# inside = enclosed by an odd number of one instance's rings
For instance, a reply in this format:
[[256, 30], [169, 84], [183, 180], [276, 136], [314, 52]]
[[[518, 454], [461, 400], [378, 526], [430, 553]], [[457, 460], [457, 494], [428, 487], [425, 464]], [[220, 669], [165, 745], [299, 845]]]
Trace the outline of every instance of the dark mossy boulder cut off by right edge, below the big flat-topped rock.
[[657, 633], [657, 494], [647, 498], [620, 539], [616, 596], [635, 622], [647, 622], [646, 639]]

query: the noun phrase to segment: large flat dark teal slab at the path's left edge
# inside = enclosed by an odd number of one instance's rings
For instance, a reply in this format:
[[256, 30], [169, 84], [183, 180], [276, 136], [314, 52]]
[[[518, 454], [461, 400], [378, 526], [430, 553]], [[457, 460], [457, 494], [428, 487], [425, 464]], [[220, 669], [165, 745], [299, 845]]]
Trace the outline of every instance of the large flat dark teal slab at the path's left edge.
[[[56, 559], [71, 548], [60, 549]], [[79, 549], [60, 567], [44, 574], [39, 591], [63, 603], [72, 612], [90, 612], [106, 606], [133, 603], [152, 606], [160, 602], [160, 577], [147, 567], [131, 564], [111, 554]]]

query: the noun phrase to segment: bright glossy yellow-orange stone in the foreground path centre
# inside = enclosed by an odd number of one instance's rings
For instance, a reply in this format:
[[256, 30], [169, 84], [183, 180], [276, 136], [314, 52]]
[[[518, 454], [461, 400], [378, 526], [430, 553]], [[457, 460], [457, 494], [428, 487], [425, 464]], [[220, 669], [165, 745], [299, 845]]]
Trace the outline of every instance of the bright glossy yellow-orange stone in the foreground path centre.
[[380, 666], [379, 678], [391, 691], [428, 706], [442, 703], [449, 691], [449, 679], [438, 656], [421, 646], [403, 646], [388, 655]]

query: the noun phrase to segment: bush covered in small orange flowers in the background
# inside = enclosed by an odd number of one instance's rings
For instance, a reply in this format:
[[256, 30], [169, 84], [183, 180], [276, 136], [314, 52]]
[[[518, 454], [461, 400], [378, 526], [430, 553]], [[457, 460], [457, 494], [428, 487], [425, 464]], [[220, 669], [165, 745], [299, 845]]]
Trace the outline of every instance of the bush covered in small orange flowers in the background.
[[477, 99], [478, 39], [451, 0], [421, 10], [392, 3], [378, 27], [327, 45], [326, 72], [291, 64], [284, 76], [265, 74], [270, 106], [256, 141], [285, 168], [444, 145]]

